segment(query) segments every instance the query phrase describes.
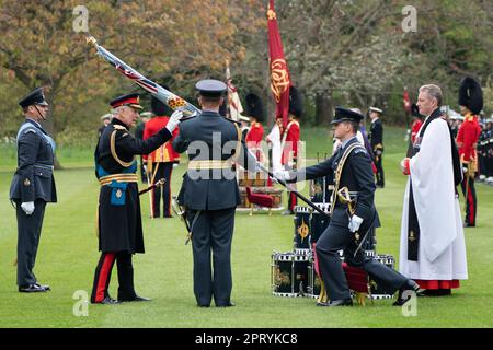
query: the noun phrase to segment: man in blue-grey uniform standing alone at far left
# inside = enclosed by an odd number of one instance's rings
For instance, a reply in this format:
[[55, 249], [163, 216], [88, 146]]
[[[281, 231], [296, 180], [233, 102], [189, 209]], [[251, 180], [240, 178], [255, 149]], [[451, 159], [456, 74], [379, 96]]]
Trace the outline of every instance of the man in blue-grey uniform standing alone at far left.
[[18, 285], [20, 292], [46, 292], [33, 272], [47, 202], [57, 201], [53, 176], [55, 142], [41, 126], [48, 114], [42, 88], [19, 102], [25, 116], [18, 132], [18, 170], [10, 199], [18, 215]]

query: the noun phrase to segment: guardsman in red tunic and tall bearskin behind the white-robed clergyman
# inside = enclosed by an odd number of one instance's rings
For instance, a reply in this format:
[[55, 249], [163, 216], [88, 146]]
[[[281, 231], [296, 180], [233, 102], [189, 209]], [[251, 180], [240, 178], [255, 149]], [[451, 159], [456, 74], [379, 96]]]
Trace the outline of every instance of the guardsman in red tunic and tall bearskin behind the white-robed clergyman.
[[478, 172], [477, 148], [481, 133], [478, 114], [483, 108], [483, 94], [481, 85], [470, 77], [466, 77], [460, 83], [459, 106], [460, 114], [465, 117], [456, 139], [460, 161], [465, 168], [463, 180], [460, 184], [466, 200], [466, 219], [463, 225], [465, 228], [473, 228], [475, 226], [478, 211], [478, 199], [474, 188], [474, 177]]

